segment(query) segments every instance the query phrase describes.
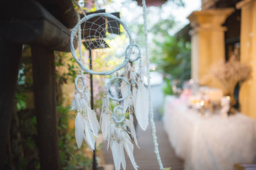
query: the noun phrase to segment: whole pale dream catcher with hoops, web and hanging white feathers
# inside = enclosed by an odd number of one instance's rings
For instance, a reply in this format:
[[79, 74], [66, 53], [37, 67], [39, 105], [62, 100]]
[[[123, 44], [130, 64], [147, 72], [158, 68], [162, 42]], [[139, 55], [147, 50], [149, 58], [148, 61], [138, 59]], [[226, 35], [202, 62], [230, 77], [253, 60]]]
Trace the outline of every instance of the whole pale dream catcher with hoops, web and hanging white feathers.
[[[121, 166], [126, 169], [124, 151], [134, 169], [137, 169], [132, 143], [133, 139], [139, 147], [134, 118], [137, 118], [142, 130], [146, 130], [149, 124], [149, 110], [152, 113], [148, 100], [150, 93], [148, 96], [143, 81], [144, 77], [149, 78], [149, 69], [144, 68], [141, 50], [134, 44], [128, 27], [110, 13], [85, 16], [73, 28], [71, 42], [77, 34], [79, 53], [75, 52], [73, 43], [70, 48], [81, 68], [80, 75], [75, 79], [75, 98], [71, 108], [77, 112], [75, 139], [78, 147], [85, 140], [92, 150], [95, 149], [95, 137], [101, 128], [107, 149], [112, 150], [115, 169], [120, 169]], [[90, 53], [93, 50], [96, 56], [94, 60], [97, 60], [97, 64], [102, 64], [102, 67], [91, 67], [88, 62], [92, 60], [91, 55], [82, 55], [82, 44]], [[105, 94], [102, 98], [100, 125], [95, 111], [90, 108], [90, 91], [85, 87], [83, 72], [111, 77], [105, 86]], [[153, 119], [152, 114], [151, 119]], [[151, 124], [154, 125], [153, 120]], [[158, 154], [155, 130], [153, 134], [155, 152]], [[160, 160], [160, 157], [157, 158]], [[161, 166], [160, 168], [163, 169]]]

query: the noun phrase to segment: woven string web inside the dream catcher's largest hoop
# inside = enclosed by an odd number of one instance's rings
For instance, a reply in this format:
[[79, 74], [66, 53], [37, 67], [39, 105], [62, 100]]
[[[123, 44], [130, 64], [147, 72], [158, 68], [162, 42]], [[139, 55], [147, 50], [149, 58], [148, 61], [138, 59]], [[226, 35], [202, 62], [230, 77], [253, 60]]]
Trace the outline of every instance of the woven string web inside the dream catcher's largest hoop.
[[[107, 72], [124, 62], [129, 36], [122, 24], [113, 18], [95, 16], [81, 23], [83, 62], [87, 69]], [[92, 66], [90, 65], [92, 60]]]

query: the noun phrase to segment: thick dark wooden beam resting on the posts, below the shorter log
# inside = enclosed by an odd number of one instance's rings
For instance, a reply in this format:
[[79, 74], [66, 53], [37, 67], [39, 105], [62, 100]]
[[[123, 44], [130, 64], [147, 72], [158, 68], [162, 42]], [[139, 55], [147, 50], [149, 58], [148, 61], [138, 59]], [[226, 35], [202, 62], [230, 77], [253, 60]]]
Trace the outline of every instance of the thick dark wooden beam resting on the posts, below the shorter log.
[[[5, 38], [11, 42], [70, 52], [70, 30], [36, 1], [16, 1], [3, 18]], [[74, 40], [77, 46], [77, 40]]]

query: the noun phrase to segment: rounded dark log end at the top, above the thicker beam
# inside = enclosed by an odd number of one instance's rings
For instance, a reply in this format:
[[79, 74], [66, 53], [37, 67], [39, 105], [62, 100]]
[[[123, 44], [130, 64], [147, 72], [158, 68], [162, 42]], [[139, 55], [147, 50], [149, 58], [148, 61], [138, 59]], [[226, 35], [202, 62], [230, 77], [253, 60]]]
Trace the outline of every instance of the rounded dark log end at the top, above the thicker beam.
[[78, 16], [73, 7], [72, 0], [37, 0], [55, 18], [67, 28], [74, 28], [78, 23]]

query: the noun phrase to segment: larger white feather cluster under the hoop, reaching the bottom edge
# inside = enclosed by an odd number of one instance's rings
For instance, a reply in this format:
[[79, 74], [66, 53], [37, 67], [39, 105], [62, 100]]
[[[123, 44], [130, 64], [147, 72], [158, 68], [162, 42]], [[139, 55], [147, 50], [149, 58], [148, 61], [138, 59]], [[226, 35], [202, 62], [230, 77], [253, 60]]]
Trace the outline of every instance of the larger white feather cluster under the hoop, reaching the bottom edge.
[[127, 89], [129, 89], [128, 86], [132, 87], [132, 91], [121, 103], [117, 102], [117, 106], [113, 111], [110, 107], [110, 94], [107, 91], [105, 92], [102, 100], [100, 125], [103, 138], [107, 141], [107, 149], [110, 148], [112, 150], [115, 169], [120, 169], [121, 166], [122, 169], [126, 169], [124, 150], [131, 160], [134, 169], [138, 169], [139, 166], [137, 166], [133, 155], [134, 145], [132, 144], [132, 139], [137, 147], [139, 147], [134, 128], [134, 115], [136, 115], [142, 130], [146, 130], [149, 125], [148, 94], [143, 82], [146, 71], [141, 63], [137, 70], [128, 63], [124, 69], [123, 76], [130, 84], [124, 81], [119, 84], [120, 97], [126, 96]]

